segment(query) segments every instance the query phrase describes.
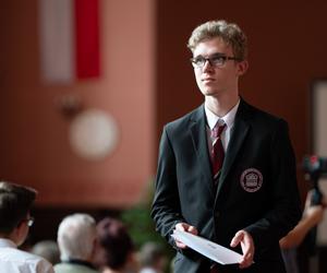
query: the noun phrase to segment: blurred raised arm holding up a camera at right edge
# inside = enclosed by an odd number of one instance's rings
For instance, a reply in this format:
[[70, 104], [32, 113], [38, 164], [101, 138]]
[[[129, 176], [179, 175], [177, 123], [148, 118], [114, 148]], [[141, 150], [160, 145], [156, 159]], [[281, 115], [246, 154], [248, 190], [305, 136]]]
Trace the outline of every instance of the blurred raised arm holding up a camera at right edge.
[[[323, 199], [322, 204], [313, 205], [311, 204], [312, 194], [313, 191], [307, 192], [301, 221], [291, 232], [288, 233], [287, 236], [279, 240], [282, 258], [288, 273], [300, 272], [298, 263], [298, 247], [304, 241], [308, 233], [324, 219], [324, 212], [327, 205], [326, 199]], [[315, 241], [311, 241], [311, 244], [315, 244]]]

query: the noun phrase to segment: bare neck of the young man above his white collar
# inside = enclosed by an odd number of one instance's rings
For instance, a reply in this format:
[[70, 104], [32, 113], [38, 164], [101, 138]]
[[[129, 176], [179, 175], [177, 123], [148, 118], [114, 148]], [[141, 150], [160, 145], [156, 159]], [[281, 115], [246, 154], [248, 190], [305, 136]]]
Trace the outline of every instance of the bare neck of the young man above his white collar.
[[214, 112], [218, 117], [223, 117], [238, 104], [239, 99], [239, 94], [235, 94], [234, 96], [220, 97], [206, 96], [205, 105], [211, 112]]

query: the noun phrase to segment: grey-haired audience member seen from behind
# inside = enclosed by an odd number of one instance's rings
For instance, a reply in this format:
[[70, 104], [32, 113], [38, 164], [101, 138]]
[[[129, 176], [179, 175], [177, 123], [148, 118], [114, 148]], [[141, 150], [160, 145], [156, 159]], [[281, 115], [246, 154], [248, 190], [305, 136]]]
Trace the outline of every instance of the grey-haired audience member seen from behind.
[[61, 263], [56, 273], [96, 273], [93, 264], [96, 250], [96, 222], [88, 215], [76, 213], [62, 219], [58, 228]]

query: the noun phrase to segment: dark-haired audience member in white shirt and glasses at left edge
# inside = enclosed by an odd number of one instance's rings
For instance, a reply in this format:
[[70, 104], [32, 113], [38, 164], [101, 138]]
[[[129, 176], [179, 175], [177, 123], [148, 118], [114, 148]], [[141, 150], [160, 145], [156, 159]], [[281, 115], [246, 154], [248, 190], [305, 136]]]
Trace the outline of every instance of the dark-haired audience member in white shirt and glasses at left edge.
[[45, 259], [17, 249], [33, 225], [29, 212], [36, 194], [32, 188], [0, 182], [0, 272], [53, 272]]

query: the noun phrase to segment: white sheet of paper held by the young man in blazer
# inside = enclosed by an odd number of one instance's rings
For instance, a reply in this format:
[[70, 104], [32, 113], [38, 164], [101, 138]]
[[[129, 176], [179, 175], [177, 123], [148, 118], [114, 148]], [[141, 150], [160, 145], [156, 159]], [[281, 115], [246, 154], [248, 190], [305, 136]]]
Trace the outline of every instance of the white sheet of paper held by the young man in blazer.
[[242, 260], [242, 256], [240, 253], [190, 233], [174, 230], [172, 237], [203, 256], [221, 264], [240, 263]]

